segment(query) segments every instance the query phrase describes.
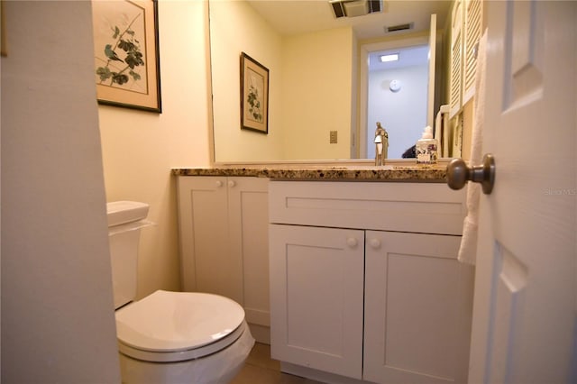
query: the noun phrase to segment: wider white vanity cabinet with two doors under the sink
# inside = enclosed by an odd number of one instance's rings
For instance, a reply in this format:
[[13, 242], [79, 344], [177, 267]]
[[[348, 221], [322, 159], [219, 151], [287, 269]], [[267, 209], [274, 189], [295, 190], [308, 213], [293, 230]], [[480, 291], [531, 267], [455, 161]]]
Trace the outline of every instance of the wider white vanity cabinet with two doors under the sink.
[[464, 194], [444, 184], [270, 181], [272, 357], [334, 383], [466, 382]]

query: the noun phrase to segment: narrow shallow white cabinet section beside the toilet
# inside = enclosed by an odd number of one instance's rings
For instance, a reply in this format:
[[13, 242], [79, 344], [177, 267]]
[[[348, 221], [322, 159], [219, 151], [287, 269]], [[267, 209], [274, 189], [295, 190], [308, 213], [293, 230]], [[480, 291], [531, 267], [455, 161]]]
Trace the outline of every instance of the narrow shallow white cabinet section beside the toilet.
[[262, 343], [270, 337], [268, 182], [251, 177], [178, 178], [183, 290], [234, 299]]

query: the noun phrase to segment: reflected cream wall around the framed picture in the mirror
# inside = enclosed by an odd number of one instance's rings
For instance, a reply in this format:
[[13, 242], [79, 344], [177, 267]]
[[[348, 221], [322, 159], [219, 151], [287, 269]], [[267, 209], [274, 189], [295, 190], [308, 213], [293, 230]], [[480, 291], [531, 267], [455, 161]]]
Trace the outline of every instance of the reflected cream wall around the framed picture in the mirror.
[[[245, 2], [212, 2], [210, 14], [216, 160], [282, 160], [281, 37]], [[241, 52], [269, 69], [269, 134], [240, 129]]]

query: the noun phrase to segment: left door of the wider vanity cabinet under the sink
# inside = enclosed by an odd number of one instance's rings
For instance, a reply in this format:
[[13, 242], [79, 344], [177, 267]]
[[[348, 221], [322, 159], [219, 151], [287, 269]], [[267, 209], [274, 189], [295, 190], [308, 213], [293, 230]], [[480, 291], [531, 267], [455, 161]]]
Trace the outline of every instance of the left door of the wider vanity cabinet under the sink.
[[361, 379], [364, 232], [269, 228], [272, 357]]

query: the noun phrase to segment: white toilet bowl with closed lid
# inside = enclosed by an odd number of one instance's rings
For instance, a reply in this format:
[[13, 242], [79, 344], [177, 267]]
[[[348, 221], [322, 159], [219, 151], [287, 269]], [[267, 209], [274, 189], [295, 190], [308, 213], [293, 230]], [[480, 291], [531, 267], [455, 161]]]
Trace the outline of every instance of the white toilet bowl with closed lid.
[[254, 344], [233, 300], [163, 290], [117, 310], [116, 334], [127, 383], [226, 383]]

